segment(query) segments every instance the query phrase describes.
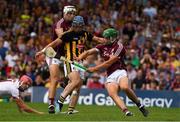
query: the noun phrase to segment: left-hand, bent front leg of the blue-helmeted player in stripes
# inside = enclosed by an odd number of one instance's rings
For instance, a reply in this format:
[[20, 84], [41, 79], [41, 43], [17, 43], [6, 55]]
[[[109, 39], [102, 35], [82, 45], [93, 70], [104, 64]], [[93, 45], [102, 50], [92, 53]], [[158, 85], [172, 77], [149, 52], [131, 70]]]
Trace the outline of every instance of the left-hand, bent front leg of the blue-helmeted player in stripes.
[[77, 71], [71, 72], [68, 75], [68, 77], [69, 77], [70, 82], [65, 87], [65, 89], [61, 93], [60, 98], [58, 100], [60, 111], [62, 110], [63, 103], [64, 103], [64, 100], [66, 99], [66, 97], [82, 82], [80, 75]]

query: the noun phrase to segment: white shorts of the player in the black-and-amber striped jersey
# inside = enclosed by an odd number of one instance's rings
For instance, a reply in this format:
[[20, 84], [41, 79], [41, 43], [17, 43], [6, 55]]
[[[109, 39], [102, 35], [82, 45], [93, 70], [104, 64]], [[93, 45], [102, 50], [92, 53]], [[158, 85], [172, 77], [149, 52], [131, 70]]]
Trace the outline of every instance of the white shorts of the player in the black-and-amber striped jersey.
[[81, 79], [85, 79], [85, 72], [80, 71], [78, 68], [76, 68], [75, 65], [70, 64], [68, 62], [64, 62], [64, 74], [67, 76], [72, 71], [78, 71], [80, 74]]

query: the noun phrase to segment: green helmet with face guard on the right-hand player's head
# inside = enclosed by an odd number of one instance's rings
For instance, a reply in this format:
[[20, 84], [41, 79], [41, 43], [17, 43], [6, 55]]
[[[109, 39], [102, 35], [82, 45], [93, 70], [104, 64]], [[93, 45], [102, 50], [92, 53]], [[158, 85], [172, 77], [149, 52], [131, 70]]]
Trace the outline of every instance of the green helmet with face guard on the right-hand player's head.
[[118, 32], [113, 28], [108, 28], [103, 32], [103, 37], [109, 39], [109, 43], [113, 43], [114, 41], [116, 41], [117, 36]]

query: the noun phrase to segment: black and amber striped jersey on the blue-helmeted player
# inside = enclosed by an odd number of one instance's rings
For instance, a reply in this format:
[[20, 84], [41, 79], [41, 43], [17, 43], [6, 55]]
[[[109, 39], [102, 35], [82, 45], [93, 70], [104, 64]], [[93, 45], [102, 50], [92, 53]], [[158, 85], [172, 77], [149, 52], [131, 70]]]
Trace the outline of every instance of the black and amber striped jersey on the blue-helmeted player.
[[93, 35], [87, 31], [69, 31], [62, 35], [66, 58], [73, 60], [73, 56], [79, 56], [87, 48], [87, 42], [91, 42]]

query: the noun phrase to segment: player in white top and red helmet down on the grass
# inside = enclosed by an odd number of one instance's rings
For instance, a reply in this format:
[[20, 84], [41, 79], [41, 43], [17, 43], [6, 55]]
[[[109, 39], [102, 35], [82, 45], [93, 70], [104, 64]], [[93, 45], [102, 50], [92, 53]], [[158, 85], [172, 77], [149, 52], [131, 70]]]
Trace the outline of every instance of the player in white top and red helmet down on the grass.
[[20, 79], [7, 79], [0, 81], [0, 96], [11, 95], [16, 102], [20, 112], [43, 114], [35, 109], [27, 106], [20, 98], [20, 92], [28, 89], [32, 84], [32, 79], [27, 75], [23, 75]]

